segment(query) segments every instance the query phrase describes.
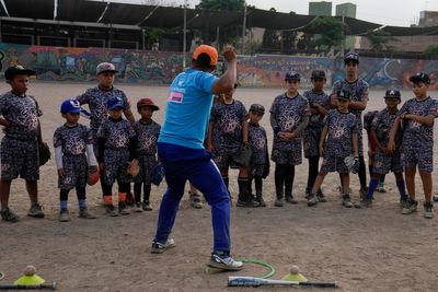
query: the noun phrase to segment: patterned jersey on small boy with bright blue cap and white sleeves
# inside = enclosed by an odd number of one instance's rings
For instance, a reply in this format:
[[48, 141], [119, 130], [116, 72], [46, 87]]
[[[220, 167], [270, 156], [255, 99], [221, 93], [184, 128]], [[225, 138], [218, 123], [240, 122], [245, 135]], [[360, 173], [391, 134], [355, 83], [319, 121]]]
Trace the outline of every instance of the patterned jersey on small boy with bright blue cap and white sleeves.
[[66, 125], [57, 128], [54, 133], [54, 148], [61, 147], [65, 155], [80, 155], [87, 151], [87, 144], [92, 144], [90, 130], [78, 124], [76, 127]]

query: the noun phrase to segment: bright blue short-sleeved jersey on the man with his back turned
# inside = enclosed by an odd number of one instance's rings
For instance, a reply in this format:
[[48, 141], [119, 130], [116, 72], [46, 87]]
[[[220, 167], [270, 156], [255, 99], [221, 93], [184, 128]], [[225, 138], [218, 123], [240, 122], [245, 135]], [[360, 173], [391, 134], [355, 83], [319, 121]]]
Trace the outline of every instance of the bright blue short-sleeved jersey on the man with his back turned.
[[216, 77], [188, 69], [172, 82], [159, 142], [203, 149]]

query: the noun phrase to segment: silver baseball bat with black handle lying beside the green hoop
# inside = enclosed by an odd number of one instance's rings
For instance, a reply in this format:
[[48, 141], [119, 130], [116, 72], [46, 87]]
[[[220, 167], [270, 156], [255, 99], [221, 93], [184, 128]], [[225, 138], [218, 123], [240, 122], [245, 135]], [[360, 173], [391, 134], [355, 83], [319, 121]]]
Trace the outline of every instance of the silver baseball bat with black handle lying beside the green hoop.
[[260, 285], [302, 285], [318, 288], [337, 288], [337, 282], [298, 282], [270, 280], [255, 277], [228, 277], [229, 287], [260, 287]]

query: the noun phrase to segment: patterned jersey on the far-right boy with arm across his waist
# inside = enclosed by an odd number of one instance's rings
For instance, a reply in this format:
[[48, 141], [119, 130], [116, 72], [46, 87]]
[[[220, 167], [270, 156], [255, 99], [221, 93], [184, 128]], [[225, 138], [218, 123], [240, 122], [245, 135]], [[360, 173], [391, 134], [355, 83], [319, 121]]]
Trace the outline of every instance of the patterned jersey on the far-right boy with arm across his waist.
[[[412, 98], [406, 101], [399, 115], [407, 113], [418, 116], [434, 116], [438, 117], [438, 104], [436, 100], [427, 97], [423, 101]], [[403, 132], [403, 148], [424, 148], [433, 147], [434, 144], [434, 125], [427, 126], [417, 121], [407, 120], [407, 125]]]

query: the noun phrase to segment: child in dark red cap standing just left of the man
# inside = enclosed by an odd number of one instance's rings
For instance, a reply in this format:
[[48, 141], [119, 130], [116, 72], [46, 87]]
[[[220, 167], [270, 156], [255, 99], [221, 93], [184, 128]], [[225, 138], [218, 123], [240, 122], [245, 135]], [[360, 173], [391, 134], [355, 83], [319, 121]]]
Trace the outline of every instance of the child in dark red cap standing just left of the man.
[[[132, 127], [137, 136], [136, 155], [140, 164], [140, 173], [135, 178], [134, 195], [136, 198], [135, 211], [151, 211], [150, 191], [151, 174], [157, 165], [157, 141], [161, 126], [152, 120], [153, 112], [160, 108], [150, 100], [141, 98], [137, 103], [137, 110], [141, 118]], [[143, 202], [141, 203], [141, 186], [143, 187]]]

